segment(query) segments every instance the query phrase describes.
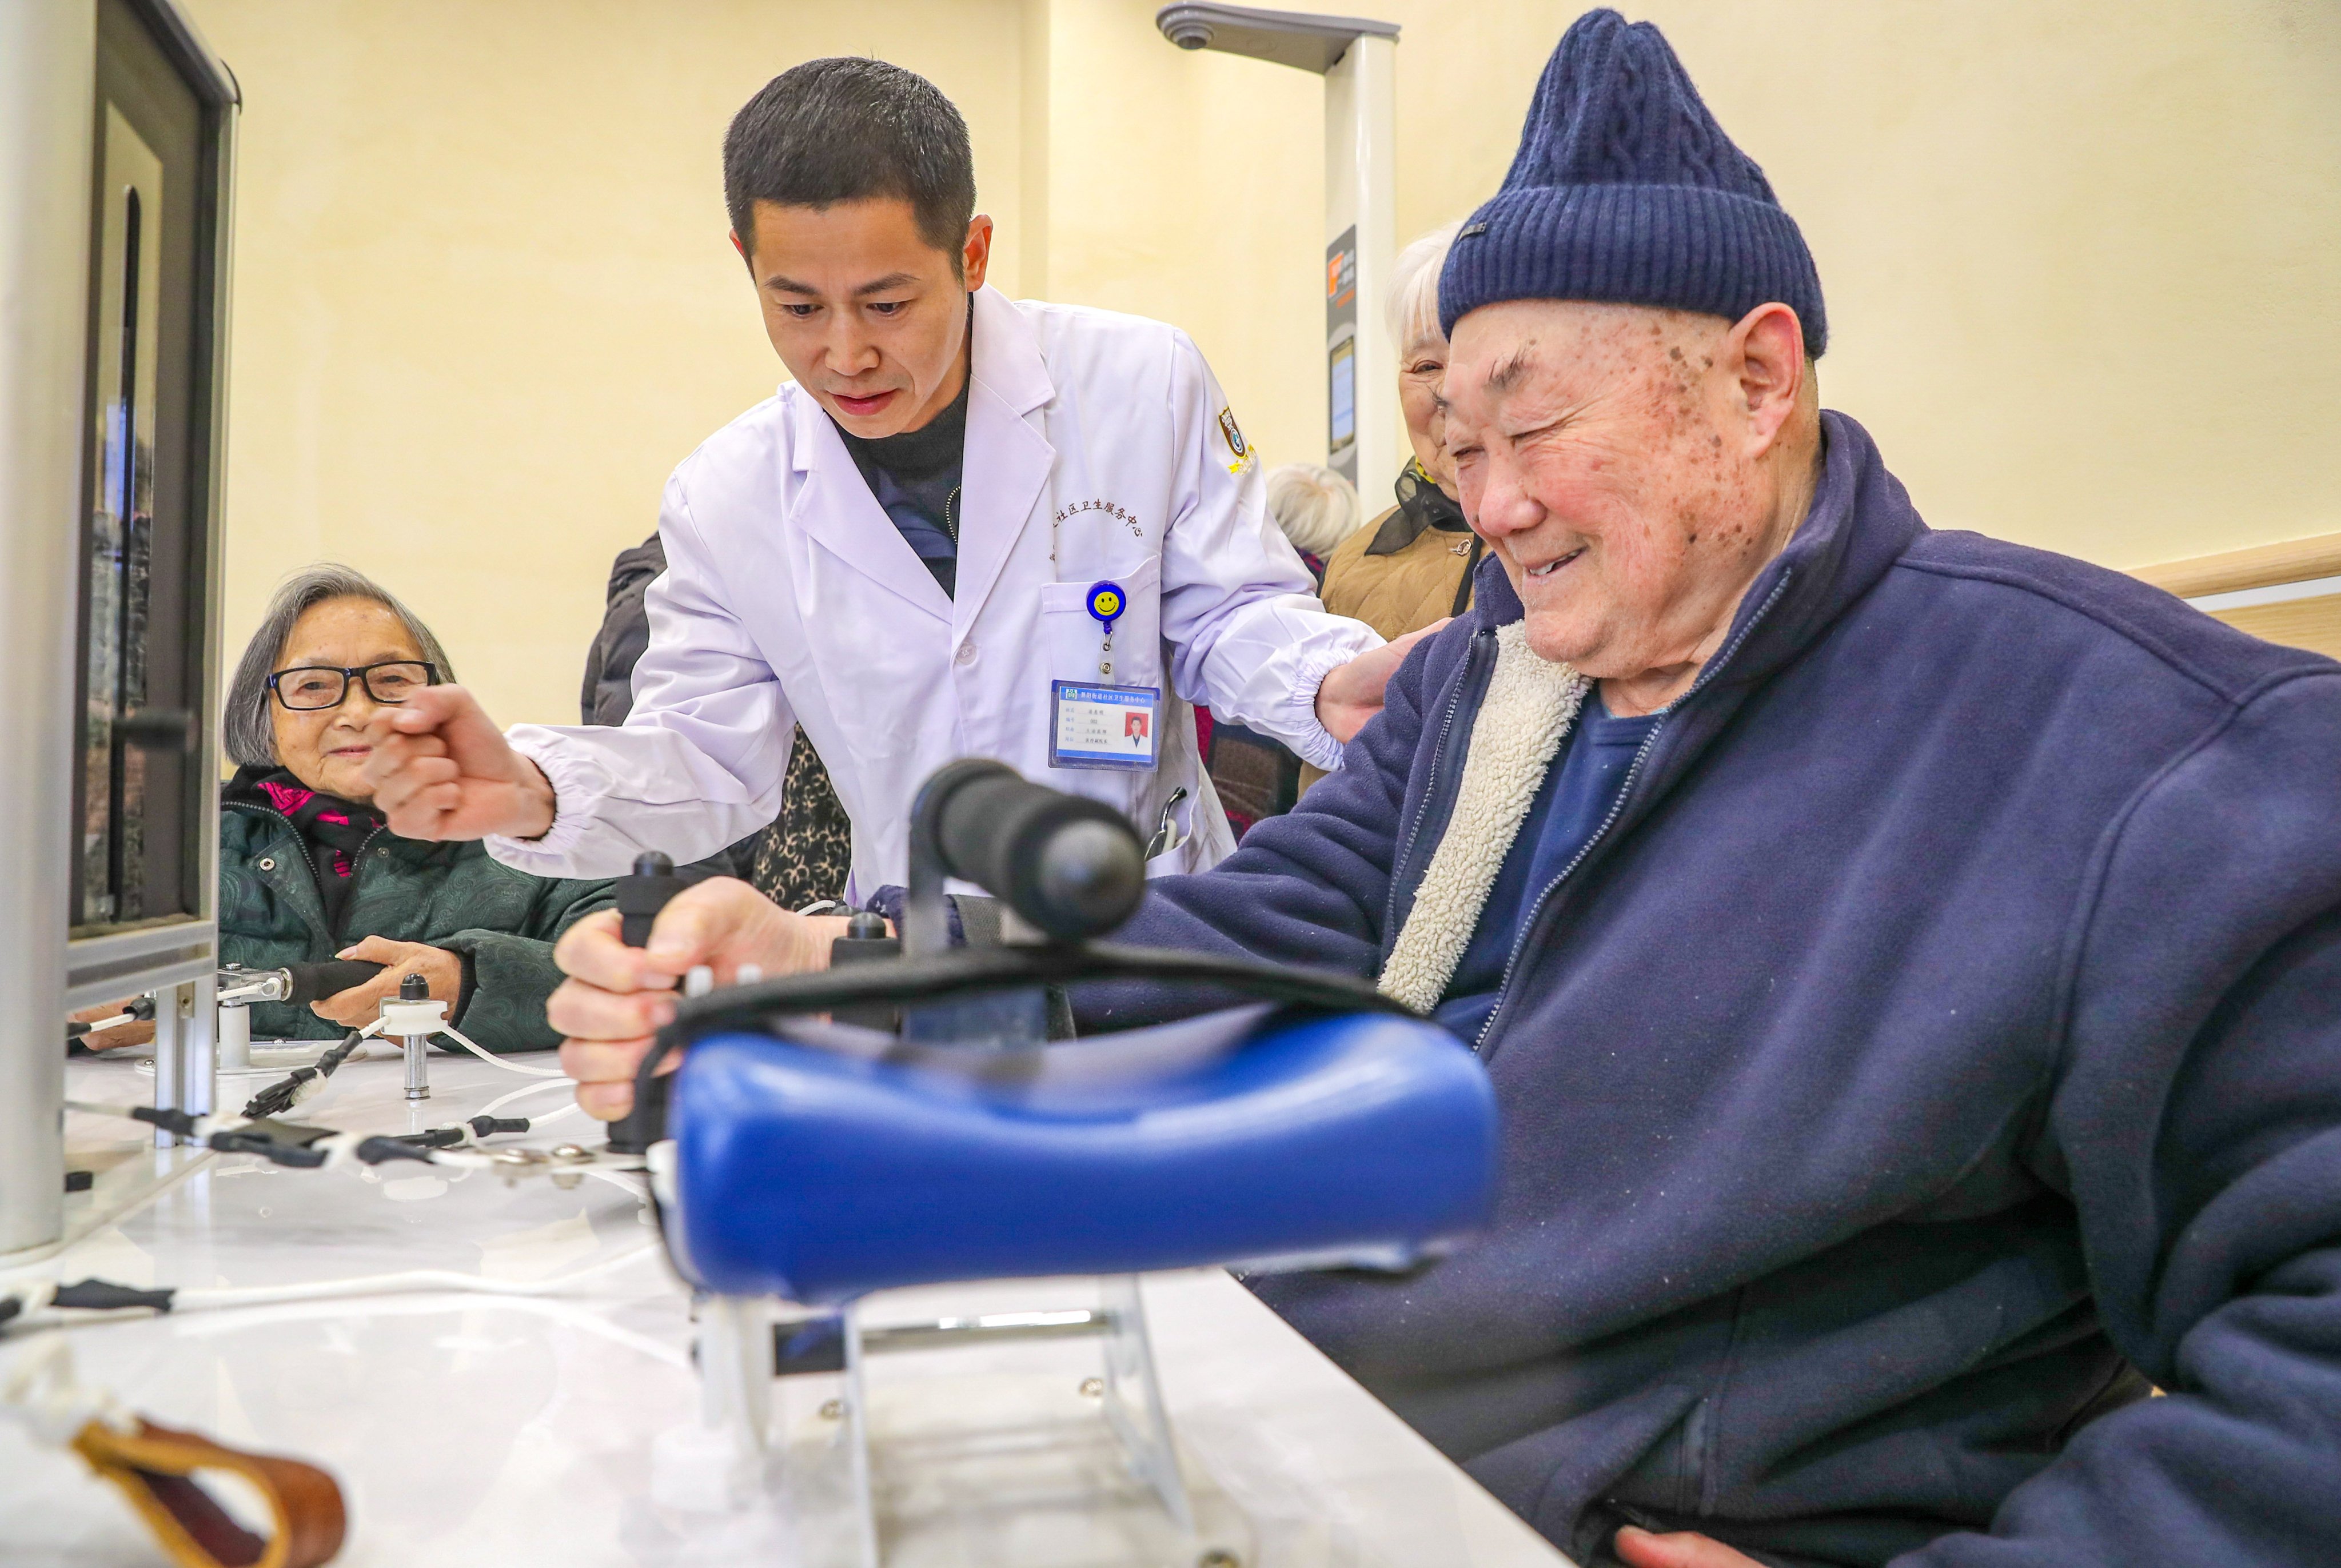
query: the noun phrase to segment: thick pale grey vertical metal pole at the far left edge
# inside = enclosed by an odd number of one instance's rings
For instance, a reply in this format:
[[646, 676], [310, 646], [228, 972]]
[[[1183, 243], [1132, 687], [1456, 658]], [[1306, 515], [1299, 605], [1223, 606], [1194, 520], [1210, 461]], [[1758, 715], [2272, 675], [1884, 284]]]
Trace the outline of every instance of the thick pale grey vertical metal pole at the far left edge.
[[94, 0], [0, 0], [0, 1261], [66, 1198]]

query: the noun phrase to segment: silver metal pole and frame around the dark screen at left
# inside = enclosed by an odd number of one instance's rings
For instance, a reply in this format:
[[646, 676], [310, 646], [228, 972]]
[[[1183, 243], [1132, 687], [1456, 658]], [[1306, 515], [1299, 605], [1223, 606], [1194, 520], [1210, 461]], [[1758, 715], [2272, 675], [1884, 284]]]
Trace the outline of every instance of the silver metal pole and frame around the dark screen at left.
[[[68, 941], [101, 0], [0, 0], [0, 1264], [63, 1238], [63, 1016], [157, 992], [157, 1102], [211, 1109], [218, 835], [199, 906]], [[241, 94], [173, 0], [124, 0], [201, 110], [190, 548], [201, 599], [201, 824], [218, 819], [227, 290]], [[190, 646], [190, 653], [197, 653]]]

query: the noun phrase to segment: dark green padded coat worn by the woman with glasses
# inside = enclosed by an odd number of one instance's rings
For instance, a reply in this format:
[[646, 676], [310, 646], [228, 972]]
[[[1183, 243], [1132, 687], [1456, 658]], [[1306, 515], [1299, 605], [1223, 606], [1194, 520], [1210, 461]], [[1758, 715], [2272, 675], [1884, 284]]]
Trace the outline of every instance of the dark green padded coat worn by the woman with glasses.
[[[426, 845], [379, 828], [356, 854], [337, 941], [300, 831], [236, 784], [220, 803], [220, 962], [281, 969], [328, 960], [365, 936], [419, 941], [464, 957], [464, 997], [452, 1016], [464, 1034], [489, 1051], [559, 1044], [545, 1025], [545, 997], [562, 981], [552, 941], [609, 908], [611, 882], [531, 878], [499, 866], [485, 845]], [[339, 1034], [307, 1006], [253, 1006], [255, 1039]]]

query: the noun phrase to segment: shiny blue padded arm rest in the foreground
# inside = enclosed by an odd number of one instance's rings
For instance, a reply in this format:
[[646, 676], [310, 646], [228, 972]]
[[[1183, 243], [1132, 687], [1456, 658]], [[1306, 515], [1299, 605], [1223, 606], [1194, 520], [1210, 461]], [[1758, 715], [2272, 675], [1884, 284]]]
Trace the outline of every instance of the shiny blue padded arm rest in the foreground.
[[1428, 1023], [1248, 1006], [1028, 1051], [819, 1039], [721, 1034], [684, 1060], [667, 1245], [698, 1285], [836, 1304], [1194, 1264], [1407, 1266], [1491, 1212], [1496, 1098]]

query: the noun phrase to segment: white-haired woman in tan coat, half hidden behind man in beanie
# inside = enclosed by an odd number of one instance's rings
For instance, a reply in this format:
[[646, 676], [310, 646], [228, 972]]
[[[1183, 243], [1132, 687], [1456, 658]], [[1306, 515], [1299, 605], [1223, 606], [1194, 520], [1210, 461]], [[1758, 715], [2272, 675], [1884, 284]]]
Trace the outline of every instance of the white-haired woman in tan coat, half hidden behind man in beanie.
[[[1440, 332], [1440, 267], [1458, 222], [1398, 253], [1384, 309], [1398, 339], [1398, 405], [1414, 456], [1398, 475], [1398, 506], [1348, 536], [1325, 562], [1323, 597], [1388, 639], [1470, 608], [1470, 573], [1482, 543], [1463, 522], [1447, 456], [1447, 335]], [[1320, 777], [1320, 775], [1318, 775]]]

